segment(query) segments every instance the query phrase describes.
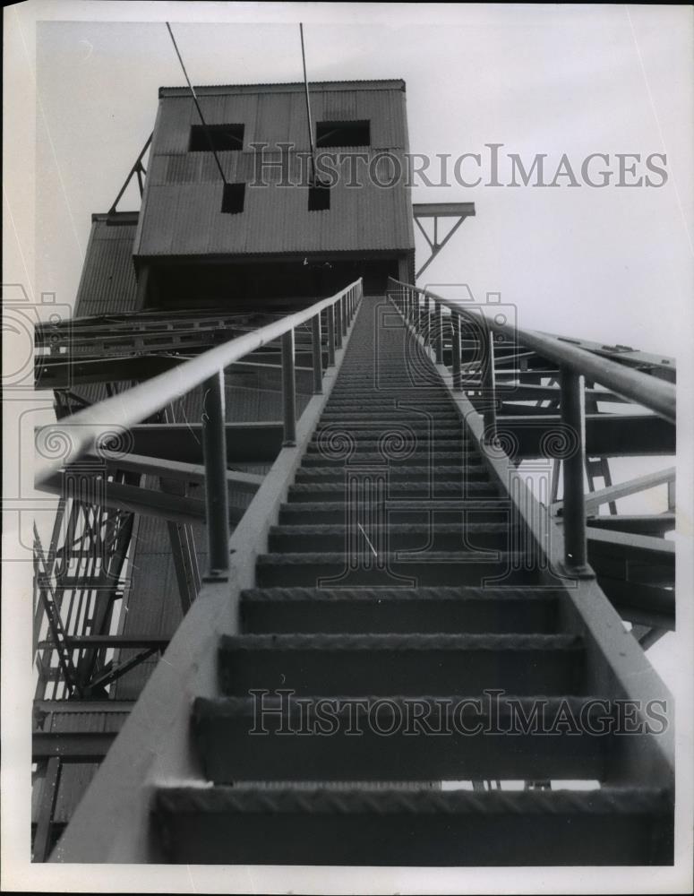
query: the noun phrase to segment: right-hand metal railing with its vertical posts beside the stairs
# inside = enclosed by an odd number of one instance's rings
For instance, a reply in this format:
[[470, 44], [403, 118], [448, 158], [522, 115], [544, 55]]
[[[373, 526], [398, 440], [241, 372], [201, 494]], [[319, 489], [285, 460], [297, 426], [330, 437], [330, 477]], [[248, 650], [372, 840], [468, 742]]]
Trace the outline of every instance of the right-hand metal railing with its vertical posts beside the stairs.
[[[484, 439], [493, 444], [497, 435], [497, 409], [501, 406], [494, 365], [494, 351], [500, 340], [515, 349], [530, 349], [540, 358], [553, 362], [558, 369], [559, 412], [567, 432], [575, 435], [575, 450], [563, 458], [563, 501], [561, 517], [564, 537], [564, 567], [577, 577], [592, 576], [587, 563], [587, 505], [584, 494], [586, 465], [585, 383], [598, 383], [609, 390], [607, 397], [619, 396], [647, 408], [658, 418], [675, 422], [675, 386], [641, 371], [578, 349], [565, 341], [509, 323], [504, 314], [490, 314], [478, 307], [473, 311], [459, 302], [437, 296], [426, 289], [390, 278], [390, 298], [408, 323], [432, 349], [437, 364], [443, 363], [444, 334], [450, 337], [452, 386], [455, 392], [471, 393], [471, 400], [484, 420]], [[494, 339], [494, 336], [497, 339]], [[461, 340], [471, 347], [473, 358], [464, 363]], [[508, 356], [507, 356], [508, 357]], [[474, 396], [474, 397], [472, 397]], [[662, 478], [673, 485], [673, 470]], [[660, 479], [658, 479], [660, 481]], [[650, 487], [651, 478], [644, 478], [641, 487]], [[617, 489], [618, 487], [614, 487]], [[623, 494], [639, 490], [638, 482]], [[608, 490], [605, 490], [608, 491]], [[608, 496], [606, 500], [610, 500]], [[594, 502], [595, 504], [595, 502]], [[557, 508], [560, 509], [560, 508]]]

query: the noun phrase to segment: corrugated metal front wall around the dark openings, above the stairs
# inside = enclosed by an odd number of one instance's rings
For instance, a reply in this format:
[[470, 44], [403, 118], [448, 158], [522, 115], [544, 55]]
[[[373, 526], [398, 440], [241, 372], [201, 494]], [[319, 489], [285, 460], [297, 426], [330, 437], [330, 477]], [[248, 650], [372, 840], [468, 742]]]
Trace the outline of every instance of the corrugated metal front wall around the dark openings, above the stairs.
[[[350, 86], [311, 90], [314, 121], [368, 119], [371, 146], [331, 148], [327, 154], [368, 152], [370, 160], [388, 152], [400, 160], [404, 172], [407, 151], [405, 94], [386, 82], [377, 88]], [[223, 90], [223, 89], [219, 89]], [[221, 212], [222, 184], [211, 153], [188, 152], [190, 127], [199, 123], [193, 100], [185, 93], [165, 96], [150, 154], [150, 169], [141, 211], [141, 228], [135, 254], [225, 255], [287, 254], [307, 252], [412, 251], [414, 229], [410, 191], [405, 177], [389, 187], [370, 183], [347, 187], [342, 178], [330, 194], [330, 211], [308, 211], [305, 186], [277, 185], [278, 172], [265, 169], [268, 187], [251, 186], [256, 160], [252, 144], [270, 149], [280, 142], [308, 153], [302, 85], [281, 90], [227, 88], [226, 93], [201, 96], [201, 108], [210, 125], [244, 124], [244, 151], [220, 152], [218, 158], [230, 182], [246, 186], [244, 211]], [[235, 92], [236, 90], [236, 92]], [[268, 152], [268, 151], [266, 151]], [[387, 181], [390, 162], [374, 163], [376, 177]], [[307, 162], [290, 156], [290, 178], [305, 183]], [[346, 173], [346, 169], [341, 169]], [[303, 177], [302, 177], [303, 174]]]

